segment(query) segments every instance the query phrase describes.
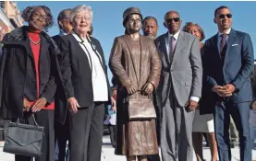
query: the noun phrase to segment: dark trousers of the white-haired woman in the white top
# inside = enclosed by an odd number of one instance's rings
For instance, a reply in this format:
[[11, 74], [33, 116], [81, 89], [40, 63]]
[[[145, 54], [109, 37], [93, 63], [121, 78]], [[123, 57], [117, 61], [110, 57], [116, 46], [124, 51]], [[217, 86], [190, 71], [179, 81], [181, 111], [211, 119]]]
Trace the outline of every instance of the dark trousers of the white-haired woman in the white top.
[[70, 113], [71, 161], [101, 161], [104, 132], [104, 103]]

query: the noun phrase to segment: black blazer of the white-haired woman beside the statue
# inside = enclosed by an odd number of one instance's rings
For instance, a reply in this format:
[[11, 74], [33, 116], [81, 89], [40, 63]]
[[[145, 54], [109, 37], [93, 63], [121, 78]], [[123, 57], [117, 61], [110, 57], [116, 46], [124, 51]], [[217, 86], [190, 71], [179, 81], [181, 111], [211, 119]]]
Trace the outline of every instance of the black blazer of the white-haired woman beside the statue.
[[[90, 37], [91, 45], [100, 53], [103, 60], [104, 73], [106, 75], [109, 100], [112, 96], [108, 78], [107, 69], [104, 60], [104, 51], [99, 40]], [[93, 92], [91, 83], [91, 67], [89, 60], [79, 46], [79, 42], [74, 38], [72, 34], [55, 37], [56, 44], [59, 45], [59, 49], [62, 52], [62, 60], [60, 61], [60, 67], [63, 76], [63, 83], [66, 90], [67, 98], [76, 98], [80, 107], [91, 107], [93, 104]], [[61, 115], [57, 116], [57, 120], [64, 121], [67, 114], [67, 102], [63, 100], [64, 91], [60, 87], [57, 89], [55, 99], [57, 101], [57, 110], [60, 110]], [[106, 102], [106, 103], [109, 103]]]

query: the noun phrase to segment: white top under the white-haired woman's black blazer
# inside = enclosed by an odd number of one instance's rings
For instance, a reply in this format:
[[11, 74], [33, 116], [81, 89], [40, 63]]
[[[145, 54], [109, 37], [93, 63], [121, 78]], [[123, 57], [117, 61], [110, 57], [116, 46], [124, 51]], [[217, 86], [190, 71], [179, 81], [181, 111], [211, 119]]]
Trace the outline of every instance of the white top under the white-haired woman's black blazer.
[[[106, 76], [103, 69], [103, 60], [99, 52], [94, 52], [91, 42], [87, 39], [79, 38], [79, 36], [73, 32], [72, 35], [79, 41], [81, 49], [85, 52], [89, 64], [91, 67], [91, 83], [93, 91], [93, 101], [107, 101], [108, 89], [106, 83]], [[82, 40], [83, 42], [82, 42]], [[90, 38], [88, 38], [90, 39]]]

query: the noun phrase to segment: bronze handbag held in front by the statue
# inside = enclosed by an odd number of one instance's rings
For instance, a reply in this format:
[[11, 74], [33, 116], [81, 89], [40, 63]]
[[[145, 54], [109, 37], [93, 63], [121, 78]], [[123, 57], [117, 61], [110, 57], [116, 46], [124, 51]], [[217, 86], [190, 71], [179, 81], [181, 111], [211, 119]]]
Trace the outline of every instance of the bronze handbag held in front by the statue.
[[151, 120], [156, 118], [155, 109], [151, 99], [129, 99], [129, 121]]

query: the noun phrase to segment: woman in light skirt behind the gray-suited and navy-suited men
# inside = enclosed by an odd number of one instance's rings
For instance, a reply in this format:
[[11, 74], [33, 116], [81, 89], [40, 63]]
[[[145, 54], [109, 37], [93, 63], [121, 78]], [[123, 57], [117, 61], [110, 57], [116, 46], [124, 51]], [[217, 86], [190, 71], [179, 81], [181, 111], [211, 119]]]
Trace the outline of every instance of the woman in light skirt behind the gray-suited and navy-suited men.
[[[201, 47], [201, 54], [204, 52], [204, 44], [201, 40], [204, 40], [205, 35], [201, 26], [198, 24], [187, 22], [183, 27], [183, 31], [189, 32], [190, 34], [194, 35], [198, 38], [200, 47]], [[207, 135], [207, 140], [211, 149], [212, 154], [212, 161], [217, 161], [217, 144], [215, 140], [215, 133], [214, 133], [214, 122], [213, 122], [213, 110], [208, 110], [207, 103], [203, 104], [203, 97], [204, 97], [204, 84], [202, 85], [202, 97], [200, 101], [200, 106], [196, 109], [195, 118], [193, 121], [193, 132], [192, 132], [192, 139], [193, 139], [193, 146], [195, 149], [195, 153], [197, 155], [197, 160], [203, 160], [202, 155], [202, 132], [205, 132]]]

